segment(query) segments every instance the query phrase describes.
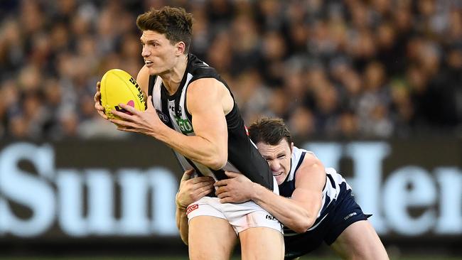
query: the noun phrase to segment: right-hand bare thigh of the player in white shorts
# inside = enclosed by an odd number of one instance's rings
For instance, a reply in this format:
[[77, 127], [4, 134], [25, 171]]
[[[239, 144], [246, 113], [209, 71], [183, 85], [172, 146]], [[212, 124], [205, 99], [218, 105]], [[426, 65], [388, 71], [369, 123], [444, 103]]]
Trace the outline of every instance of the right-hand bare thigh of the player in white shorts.
[[284, 259], [284, 238], [269, 227], [251, 227], [239, 233], [242, 260]]

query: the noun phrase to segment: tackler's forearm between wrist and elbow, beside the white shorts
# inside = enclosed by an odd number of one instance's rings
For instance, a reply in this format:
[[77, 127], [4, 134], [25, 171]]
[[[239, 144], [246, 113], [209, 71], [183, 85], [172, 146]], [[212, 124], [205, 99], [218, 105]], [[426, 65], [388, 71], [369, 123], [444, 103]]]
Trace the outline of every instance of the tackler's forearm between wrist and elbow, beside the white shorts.
[[257, 183], [254, 183], [254, 191], [252, 200], [295, 232], [306, 232], [316, 220], [316, 212], [309, 212], [295, 200], [276, 195]]

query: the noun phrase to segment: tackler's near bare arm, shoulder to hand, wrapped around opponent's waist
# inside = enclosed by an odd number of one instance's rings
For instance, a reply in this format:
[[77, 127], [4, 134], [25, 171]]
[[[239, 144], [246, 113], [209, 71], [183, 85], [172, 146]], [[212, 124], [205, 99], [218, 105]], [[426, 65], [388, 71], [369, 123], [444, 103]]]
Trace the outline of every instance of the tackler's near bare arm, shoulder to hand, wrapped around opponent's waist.
[[232, 178], [215, 183], [220, 202], [253, 200], [282, 224], [295, 232], [306, 232], [321, 208], [326, 182], [324, 167], [314, 156], [306, 156], [296, 173], [296, 189], [291, 199], [274, 194], [262, 185], [252, 183], [242, 174], [226, 172]]

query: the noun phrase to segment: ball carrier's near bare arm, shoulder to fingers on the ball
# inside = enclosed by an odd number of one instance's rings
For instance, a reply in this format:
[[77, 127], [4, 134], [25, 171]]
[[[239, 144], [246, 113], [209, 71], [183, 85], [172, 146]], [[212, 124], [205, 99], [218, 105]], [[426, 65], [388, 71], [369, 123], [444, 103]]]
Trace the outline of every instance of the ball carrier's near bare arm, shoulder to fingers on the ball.
[[186, 136], [163, 124], [151, 100], [148, 101], [148, 108], [144, 112], [139, 112], [127, 104], [119, 104], [131, 115], [113, 110], [112, 113], [122, 120], [110, 121], [117, 124], [117, 129], [121, 131], [153, 136], [193, 161], [215, 170], [220, 169], [227, 161], [225, 112], [232, 109], [232, 97], [217, 80], [200, 79], [188, 87], [187, 99], [188, 110], [193, 116], [195, 136]]

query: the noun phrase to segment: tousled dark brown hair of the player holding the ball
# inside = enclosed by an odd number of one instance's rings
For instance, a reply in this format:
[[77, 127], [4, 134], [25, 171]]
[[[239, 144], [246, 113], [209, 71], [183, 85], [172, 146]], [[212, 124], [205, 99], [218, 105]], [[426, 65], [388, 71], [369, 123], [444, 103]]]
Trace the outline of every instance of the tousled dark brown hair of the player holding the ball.
[[163, 6], [157, 10], [151, 8], [136, 18], [136, 26], [141, 31], [156, 31], [166, 35], [171, 44], [183, 41], [188, 53], [193, 36], [193, 15], [183, 8]]

